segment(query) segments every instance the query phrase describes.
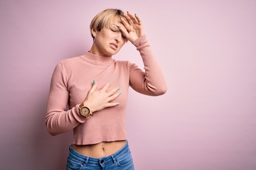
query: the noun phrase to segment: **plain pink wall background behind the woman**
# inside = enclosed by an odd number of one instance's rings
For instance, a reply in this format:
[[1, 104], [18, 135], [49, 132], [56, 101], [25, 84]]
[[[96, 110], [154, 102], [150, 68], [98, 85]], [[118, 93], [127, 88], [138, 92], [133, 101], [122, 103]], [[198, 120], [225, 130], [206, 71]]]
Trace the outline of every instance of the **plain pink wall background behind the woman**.
[[[90, 48], [105, 8], [137, 13], [168, 83], [130, 90], [137, 170], [256, 169], [256, 1], [0, 1], [1, 169], [65, 169], [71, 132], [46, 132], [55, 64]], [[128, 43], [114, 57], [142, 66]]]

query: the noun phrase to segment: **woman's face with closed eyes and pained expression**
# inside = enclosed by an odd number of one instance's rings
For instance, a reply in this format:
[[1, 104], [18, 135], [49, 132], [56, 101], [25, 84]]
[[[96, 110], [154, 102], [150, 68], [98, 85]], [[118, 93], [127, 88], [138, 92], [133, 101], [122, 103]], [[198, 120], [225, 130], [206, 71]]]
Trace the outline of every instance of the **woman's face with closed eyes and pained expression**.
[[90, 52], [103, 57], [111, 57], [117, 54], [124, 43], [127, 42], [118, 27], [124, 28], [119, 18], [114, 18], [110, 28], [102, 28], [100, 31], [92, 30], [92, 33], [96, 35], [96, 39]]

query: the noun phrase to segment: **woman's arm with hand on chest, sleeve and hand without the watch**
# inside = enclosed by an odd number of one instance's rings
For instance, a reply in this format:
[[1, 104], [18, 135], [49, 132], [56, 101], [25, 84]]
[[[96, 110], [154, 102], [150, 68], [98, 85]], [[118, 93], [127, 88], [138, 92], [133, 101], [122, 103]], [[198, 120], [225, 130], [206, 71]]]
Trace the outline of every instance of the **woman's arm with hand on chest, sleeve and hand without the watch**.
[[[85, 101], [83, 101], [84, 106], [90, 108], [92, 113], [107, 107], [117, 106], [119, 103], [113, 103], [111, 101], [121, 94], [119, 88], [108, 90], [109, 87], [110, 84], [105, 84], [102, 89], [96, 90], [97, 84], [94, 81], [92, 88], [85, 97]], [[87, 120], [80, 115], [80, 103], [67, 111], [68, 99], [68, 76], [65, 72], [65, 67], [60, 62], [55, 67], [53, 77], [50, 81], [46, 111], [46, 128], [50, 135], [58, 135], [68, 130], [73, 130], [77, 125], [85, 123]]]

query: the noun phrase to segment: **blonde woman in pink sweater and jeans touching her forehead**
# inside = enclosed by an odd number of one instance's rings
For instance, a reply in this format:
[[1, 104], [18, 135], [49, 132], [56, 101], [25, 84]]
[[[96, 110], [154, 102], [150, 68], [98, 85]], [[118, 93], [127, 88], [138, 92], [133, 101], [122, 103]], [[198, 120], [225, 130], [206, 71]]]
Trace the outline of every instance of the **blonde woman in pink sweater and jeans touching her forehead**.
[[[46, 126], [51, 135], [73, 130], [67, 169], [134, 169], [124, 125], [129, 86], [159, 96], [166, 83], [136, 14], [106, 9], [92, 19], [90, 32], [90, 50], [55, 67]], [[145, 72], [112, 58], [127, 41], [139, 50]]]

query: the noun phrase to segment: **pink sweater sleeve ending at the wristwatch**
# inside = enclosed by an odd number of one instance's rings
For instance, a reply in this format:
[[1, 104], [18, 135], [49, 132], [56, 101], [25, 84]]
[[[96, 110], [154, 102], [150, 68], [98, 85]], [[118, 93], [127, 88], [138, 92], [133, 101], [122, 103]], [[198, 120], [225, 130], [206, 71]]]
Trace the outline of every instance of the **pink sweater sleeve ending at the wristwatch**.
[[73, 130], [77, 125], [85, 122], [85, 118], [78, 111], [79, 105], [67, 111], [68, 98], [68, 77], [65, 67], [60, 62], [55, 67], [50, 81], [46, 108], [46, 128], [50, 135]]

